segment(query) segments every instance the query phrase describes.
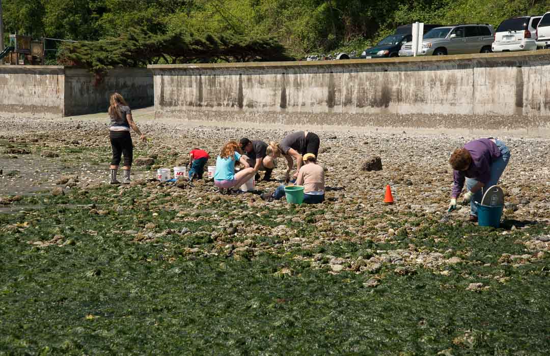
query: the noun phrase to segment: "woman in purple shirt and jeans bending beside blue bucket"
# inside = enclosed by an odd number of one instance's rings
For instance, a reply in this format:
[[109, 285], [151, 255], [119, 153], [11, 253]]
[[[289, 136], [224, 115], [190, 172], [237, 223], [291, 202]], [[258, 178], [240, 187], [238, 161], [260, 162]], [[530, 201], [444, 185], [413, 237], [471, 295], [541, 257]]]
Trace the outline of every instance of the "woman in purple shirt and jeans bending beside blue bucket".
[[455, 149], [449, 159], [454, 170], [449, 210], [456, 208], [456, 198], [460, 196], [466, 180], [464, 204], [470, 203], [470, 221], [476, 222], [477, 207], [474, 202], [481, 203], [483, 187], [497, 185], [509, 160], [508, 147], [492, 137], [470, 141], [463, 148]]

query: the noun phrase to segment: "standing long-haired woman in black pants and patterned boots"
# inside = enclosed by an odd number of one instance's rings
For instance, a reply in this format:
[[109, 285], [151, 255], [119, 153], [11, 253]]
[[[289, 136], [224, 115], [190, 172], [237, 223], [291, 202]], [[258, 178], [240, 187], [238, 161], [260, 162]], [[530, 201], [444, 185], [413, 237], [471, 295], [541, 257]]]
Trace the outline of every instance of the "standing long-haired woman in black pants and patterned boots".
[[113, 150], [113, 159], [111, 160], [111, 184], [120, 184], [117, 180], [117, 170], [121, 155], [124, 155], [124, 173], [122, 174], [122, 183], [130, 184], [130, 169], [132, 166], [133, 150], [132, 138], [130, 136], [130, 127], [140, 135], [140, 140], [145, 141], [145, 135], [138, 129], [138, 125], [132, 119], [132, 112], [128, 103], [122, 95], [114, 93], [111, 95], [109, 105], [109, 118], [111, 127], [109, 129], [109, 138], [111, 138], [111, 148]]

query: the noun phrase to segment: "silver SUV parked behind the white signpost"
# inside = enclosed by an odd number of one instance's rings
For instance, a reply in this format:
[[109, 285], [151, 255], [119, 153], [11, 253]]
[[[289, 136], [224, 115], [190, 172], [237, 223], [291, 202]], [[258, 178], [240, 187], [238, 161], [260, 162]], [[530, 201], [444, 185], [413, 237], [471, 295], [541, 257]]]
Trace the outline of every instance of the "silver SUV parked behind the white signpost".
[[[493, 41], [493, 26], [487, 24], [436, 27], [422, 38], [422, 50], [419, 55], [489, 53]], [[407, 42], [401, 47], [399, 56], [411, 55], [412, 42]]]

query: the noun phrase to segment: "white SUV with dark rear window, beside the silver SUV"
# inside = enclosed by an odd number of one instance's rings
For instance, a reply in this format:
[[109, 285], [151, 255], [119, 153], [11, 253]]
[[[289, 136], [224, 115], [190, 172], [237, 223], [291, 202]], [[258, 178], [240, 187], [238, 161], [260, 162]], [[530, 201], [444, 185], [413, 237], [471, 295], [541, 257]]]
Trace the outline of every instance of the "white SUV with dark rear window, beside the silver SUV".
[[493, 52], [534, 51], [538, 22], [542, 16], [518, 16], [502, 21], [494, 34]]

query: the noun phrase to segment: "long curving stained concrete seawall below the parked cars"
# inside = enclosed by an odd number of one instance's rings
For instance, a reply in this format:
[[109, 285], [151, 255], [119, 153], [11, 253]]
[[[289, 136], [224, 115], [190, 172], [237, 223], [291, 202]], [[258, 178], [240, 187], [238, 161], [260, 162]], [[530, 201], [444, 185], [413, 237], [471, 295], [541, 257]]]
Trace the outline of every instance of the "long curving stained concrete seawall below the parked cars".
[[550, 50], [149, 69], [157, 117], [550, 131]]

